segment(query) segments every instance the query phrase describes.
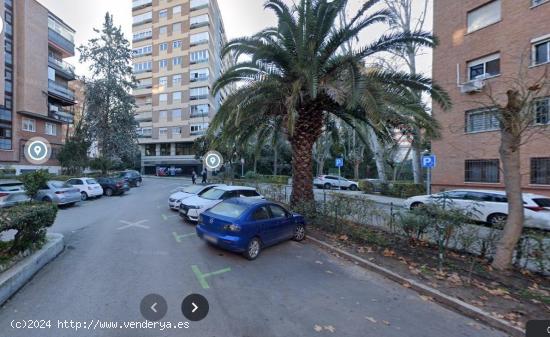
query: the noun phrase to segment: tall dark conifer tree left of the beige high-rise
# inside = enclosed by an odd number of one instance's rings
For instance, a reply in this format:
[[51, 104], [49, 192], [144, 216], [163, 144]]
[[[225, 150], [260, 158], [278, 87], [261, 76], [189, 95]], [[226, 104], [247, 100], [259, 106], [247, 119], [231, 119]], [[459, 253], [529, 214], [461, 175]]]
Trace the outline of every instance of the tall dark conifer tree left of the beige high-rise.
[[99, 35], [78, 48], [80, 62], [91, 62], [92, 78], [86, 82], [87, 113], [84, 130], [90, 143], [97, 142], [101, 156], [111, 160], [132, 158], [137, 151], [132, 50], [121, 27], [105, 14]]

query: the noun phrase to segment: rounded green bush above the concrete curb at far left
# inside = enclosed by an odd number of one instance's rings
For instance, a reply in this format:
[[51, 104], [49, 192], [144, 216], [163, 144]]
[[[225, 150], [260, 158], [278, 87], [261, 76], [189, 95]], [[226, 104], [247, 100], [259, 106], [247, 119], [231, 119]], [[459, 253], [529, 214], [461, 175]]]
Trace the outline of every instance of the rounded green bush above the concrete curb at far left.
[[53, 225], [56, 215], [57, 206], [50, 203], [25, 203], [0, 210], [0, 233], [17, 231], [0, 255], [40, 248], [45, 242], [47, 228]]

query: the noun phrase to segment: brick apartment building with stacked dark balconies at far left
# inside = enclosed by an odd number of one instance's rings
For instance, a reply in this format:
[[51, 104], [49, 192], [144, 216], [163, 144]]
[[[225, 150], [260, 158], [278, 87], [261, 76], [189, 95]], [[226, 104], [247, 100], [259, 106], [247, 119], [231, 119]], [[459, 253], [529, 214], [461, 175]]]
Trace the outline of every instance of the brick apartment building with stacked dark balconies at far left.
[[[0, 167], [56, 173], [63, 125], [72, 122], [76, 103], [68, 88], [74, 68], [64, 61], [75, 54], [75, 31], [35, 0], [0, 0], [0, 13]], [[28, 163], [23, 153], [33, 137], [52, 146], [51, 159], [41, 166]]]

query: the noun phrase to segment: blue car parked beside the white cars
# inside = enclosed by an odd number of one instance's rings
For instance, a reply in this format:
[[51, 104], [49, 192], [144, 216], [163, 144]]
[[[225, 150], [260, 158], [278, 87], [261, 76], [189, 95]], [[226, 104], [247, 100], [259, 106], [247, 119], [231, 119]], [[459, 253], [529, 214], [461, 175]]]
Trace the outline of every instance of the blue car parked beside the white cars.
[[263, 199], [233, 198], [203, 212], [197, 235], [213, 245], [254, 260], [264, 247], [306, 237], [304, 217]]

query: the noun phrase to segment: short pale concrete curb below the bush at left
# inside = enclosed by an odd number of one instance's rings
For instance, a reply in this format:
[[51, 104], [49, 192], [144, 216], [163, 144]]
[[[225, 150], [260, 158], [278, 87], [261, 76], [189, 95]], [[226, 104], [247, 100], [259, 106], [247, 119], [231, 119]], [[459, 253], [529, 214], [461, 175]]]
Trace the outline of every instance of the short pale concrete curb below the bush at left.
[[46, 244], [0, 275], [0, 305], [21, 289], [46, 264], [65, 248], [63, 235], [48, 234]]

